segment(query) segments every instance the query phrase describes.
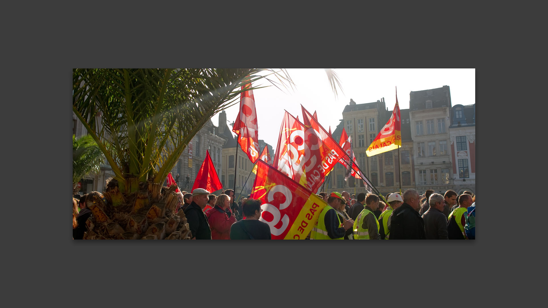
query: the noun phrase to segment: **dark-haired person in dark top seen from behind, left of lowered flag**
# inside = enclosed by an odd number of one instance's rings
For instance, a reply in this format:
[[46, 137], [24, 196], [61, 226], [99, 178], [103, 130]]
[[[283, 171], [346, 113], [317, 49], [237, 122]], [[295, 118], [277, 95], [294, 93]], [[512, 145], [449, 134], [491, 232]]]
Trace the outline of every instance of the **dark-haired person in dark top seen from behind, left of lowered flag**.
[[230, 239], [272, 239], [270, 226], [259, 220], [261, 218], [261, 201], [247, 199], [242, 204], [246, 219], [230, 227]]

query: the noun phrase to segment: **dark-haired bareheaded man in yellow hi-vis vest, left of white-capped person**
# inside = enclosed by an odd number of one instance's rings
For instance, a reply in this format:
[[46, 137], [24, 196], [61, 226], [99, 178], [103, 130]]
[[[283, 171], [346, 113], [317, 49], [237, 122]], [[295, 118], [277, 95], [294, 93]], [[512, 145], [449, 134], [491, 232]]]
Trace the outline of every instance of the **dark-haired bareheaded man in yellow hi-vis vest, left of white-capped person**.
[[366, 196], [366, 205], [353, 225], [354, 239], [380, 239], [379, 221], [373, 211], [379, 208], [379, 197], [373, 193]]

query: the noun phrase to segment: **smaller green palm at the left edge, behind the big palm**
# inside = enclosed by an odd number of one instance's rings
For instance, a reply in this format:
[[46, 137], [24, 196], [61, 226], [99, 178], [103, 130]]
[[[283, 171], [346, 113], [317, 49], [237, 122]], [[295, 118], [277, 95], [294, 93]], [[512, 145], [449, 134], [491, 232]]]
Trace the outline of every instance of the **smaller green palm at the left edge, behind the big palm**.
[[99, 146], [89, 134], [76, 138], [72, 135], [72, 189], [78, 181], [90, 173], [99, 173], [105, 162]]

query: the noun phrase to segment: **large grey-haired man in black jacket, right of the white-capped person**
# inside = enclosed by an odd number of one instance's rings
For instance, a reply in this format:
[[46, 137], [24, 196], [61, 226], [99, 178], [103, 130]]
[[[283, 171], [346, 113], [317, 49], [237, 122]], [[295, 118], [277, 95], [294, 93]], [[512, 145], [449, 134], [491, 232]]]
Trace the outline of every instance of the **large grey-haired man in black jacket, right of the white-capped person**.
[[390, 239], [425, 239], [424, 220], [419, 214], [419, 193], [403, 192], [403, 204], [390, 215]]

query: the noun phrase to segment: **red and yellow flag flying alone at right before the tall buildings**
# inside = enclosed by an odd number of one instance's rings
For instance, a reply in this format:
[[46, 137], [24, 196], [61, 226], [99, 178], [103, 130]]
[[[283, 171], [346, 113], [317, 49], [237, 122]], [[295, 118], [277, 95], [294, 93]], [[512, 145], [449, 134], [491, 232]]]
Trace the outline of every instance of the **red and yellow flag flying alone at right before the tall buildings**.
[[402, 132], [401, 118], [399, 117], [398, 91], [396, 89], [396, 105], [392, 111], [392, 116], [369, 145], [366, 155], [373, 156], [395, 150], [398, 146], [402, 146]]

